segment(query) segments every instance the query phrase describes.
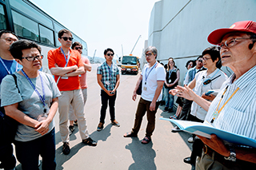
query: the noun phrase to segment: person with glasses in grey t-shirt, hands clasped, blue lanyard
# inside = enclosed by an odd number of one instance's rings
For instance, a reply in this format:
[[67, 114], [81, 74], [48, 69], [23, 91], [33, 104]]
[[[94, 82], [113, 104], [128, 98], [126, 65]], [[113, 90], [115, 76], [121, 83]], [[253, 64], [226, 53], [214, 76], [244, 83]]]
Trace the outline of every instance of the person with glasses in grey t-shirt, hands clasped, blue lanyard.
[[[10, 46], [10, 53], [23, 66], [14, 77], [6, 76], [1, 84], [2, 106], [6, 115], [18, 121], [15, 149], [22, 169], [55, 169], [54, 115], [61, 93], [49, 74], [42, 68], [41, 47], [34, 42], [20, 40]], [[17, 86], [16, 86], [16, 85]]]

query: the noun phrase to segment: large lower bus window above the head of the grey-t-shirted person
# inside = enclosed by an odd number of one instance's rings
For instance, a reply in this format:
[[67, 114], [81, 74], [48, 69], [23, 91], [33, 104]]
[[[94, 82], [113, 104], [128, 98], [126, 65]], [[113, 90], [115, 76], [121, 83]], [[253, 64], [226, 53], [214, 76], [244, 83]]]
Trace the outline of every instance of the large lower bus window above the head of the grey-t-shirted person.
[[15, 33], [23, 38], [39, 42], [38, 24], [12, 10]]

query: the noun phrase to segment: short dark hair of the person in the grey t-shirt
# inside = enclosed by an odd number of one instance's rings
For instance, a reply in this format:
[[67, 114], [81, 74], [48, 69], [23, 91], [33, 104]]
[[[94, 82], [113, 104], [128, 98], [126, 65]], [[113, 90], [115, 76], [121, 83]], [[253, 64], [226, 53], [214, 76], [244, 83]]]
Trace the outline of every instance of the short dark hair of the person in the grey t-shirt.
[[18, 40], [10, 45], [10, 53], [15, 59], [22, 60], [22, 50], [32, 48], [38, 49], [39, 53], [41, 53], [41, 47], [35, 42], [31, 42], [29, 40]]

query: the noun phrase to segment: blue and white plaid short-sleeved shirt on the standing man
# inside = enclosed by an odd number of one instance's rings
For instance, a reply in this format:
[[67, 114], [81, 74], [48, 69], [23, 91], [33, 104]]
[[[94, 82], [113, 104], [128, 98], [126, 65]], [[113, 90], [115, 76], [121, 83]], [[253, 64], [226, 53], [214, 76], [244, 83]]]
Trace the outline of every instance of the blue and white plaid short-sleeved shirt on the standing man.
[[117, 83], [117, 75], [119, 74], [118, 65], [112, 63], [111, 67], [106, 64], [98, 66], [97, 74], [102, 74], [102, 83], [107, 90], [113, 90]]

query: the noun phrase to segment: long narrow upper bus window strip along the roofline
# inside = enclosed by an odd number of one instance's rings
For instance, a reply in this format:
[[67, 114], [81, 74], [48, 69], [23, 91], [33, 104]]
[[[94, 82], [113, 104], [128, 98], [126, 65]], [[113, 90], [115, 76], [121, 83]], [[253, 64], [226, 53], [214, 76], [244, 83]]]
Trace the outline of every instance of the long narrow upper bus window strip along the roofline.
[[9, 2], [11, 6], [14, 6], [16, 9], [21, 10], [28, 16], [35, 18], [38, 22], [43, 23], [43, 25], [48, 26], [51, 29], [54, 28], [53, 22], [51, 22], [49, 18], [46, 18], [43, 14], [34, 10], [34, 8], [27, 5], [26, 2], [22, 2], [21, 0], [11, 0]]

